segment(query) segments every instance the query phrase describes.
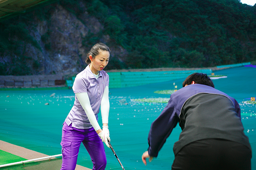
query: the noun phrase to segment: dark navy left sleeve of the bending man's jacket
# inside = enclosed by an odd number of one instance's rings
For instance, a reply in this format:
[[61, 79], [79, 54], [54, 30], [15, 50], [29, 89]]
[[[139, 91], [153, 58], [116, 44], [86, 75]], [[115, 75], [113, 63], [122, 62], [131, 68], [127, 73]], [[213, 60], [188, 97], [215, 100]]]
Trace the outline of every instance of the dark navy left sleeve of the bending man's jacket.
[[159, 150], [162, 148], [166, 139], [176, 127], [178, 123], [178, 116], [175, 109], [175, 104], [172, 101], [172, 95], [167, 106], [163, 109], [161, 114], [151, 124], [150, 132], [148, 134], [148, 154], [153, 157], [158, 156]]

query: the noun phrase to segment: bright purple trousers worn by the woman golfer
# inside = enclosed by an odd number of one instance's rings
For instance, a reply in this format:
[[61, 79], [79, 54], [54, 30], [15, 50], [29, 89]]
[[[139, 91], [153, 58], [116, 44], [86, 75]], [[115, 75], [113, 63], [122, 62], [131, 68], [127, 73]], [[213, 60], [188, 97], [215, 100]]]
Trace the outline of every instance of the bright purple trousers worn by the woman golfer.
[[64, 122], [62, 127], [62, 166], [60, 170], [74, 170], [81, 142], [91, 156], [92, 170], [104, 170], [107, 160], [102, 140], [94, 130], [76, 129]]

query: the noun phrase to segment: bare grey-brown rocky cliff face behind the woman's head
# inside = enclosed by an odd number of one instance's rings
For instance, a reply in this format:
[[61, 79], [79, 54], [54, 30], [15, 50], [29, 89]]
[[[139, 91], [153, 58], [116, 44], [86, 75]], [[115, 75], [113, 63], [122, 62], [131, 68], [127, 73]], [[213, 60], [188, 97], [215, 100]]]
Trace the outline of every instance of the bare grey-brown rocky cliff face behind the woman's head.
[[[16, 68], [14, 61], [20, 57], [26, 58], [26, 67], [22, 68], [30, 69], [30, 74], [74, 75], [86, 67], [84, 59], [93, 45], [91, 42], [88, 43], [88, 39], [90, 35], [102, 32], [104, 25], [94, 16], [90, 16], [86, 10], [82, 15], [76, 16], [59, 3], [50, 6], [52, 10], [47, 14], [48, 20], [33, 16], [25, 23], [26, 29], [39, 47], [29, 41], [20, 40], [19, 36], [8, 35], [8, 39], [12, 39], [13, 42], [22, 41], [22, 44], [17, 48], [20, 51], [19, 55], [12, 49], [0, 53], [0, 63], [8, 65], [6, 72]], [[108, 45], [109, 36], [99, 36], [98, 42]], [[113, 43], [108, 46], [112, 56], [122, 59], [126, 55], [122, 47]]]

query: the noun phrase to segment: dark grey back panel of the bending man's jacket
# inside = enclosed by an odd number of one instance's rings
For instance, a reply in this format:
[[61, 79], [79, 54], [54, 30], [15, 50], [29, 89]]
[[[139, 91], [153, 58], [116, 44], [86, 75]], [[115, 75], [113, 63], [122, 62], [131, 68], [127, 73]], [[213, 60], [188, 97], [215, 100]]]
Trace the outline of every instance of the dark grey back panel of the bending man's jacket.
[[201, 139], [225, 139], [250, 148], [240, 117], [226, 96], [198, 93], [188, 98], [182, 107], [179, 124], [182, 132], [174, 144], [174, 153]]

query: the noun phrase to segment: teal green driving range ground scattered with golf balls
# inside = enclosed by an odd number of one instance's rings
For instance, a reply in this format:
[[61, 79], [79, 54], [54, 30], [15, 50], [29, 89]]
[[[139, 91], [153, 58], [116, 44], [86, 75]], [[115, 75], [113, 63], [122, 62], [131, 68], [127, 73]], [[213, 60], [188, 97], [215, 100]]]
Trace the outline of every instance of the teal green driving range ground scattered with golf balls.
[[[236, 98], [240, 104], [244, 132], [249, 137], [253, 151], [252, 170], [256, 170], [256, 105], [243, 103], [256, 97], [256, 68], [242, 66], [214, 73], [228, 76], [213, 82], [216, 89]], [[180, 89], [183, 81], [184, 79], [178, 79], [110, 89], [111, 144], [126, 170], [170, 169], [174, 160], [172, 147], [178, 140], [180, 127], [177, 125], [174, 128], [158, 158], [145, 167], [141, 156], [148, 148], [150, 125], [160, 115], [166, 103], [134, 102], [133, 99], [169, 98], [169, 94], [154, 92], [174, 90], [174, 82], [177, 89]], [[50, 97], [53, 93], [55, 96]], [[62, 123], [73, 103], [72, 90], [0, 91], [0, 140], [48, 155], [60, 154]], [[105, 150], [108, 162], [106, 170], [121, 170], [112, 150], [107, 147]], [[90, 156], [83, 146], [80, 147], [77, 164], [92, 168]]]

